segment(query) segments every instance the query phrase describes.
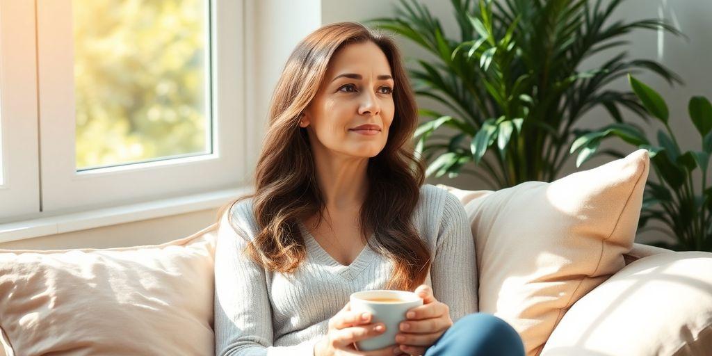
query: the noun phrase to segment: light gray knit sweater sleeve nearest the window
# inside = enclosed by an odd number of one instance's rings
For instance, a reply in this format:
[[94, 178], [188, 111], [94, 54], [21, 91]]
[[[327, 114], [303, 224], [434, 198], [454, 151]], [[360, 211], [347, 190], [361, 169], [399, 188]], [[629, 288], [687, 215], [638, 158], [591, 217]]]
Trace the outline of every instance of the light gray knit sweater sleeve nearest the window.
[[265, 270], [242, 253], [250, 238], [246, 231], [253, 230], [244, 226], [244, 216], [230, 224], [229, 214], [221, 217], [215, 247], [215, 355], [312, 356], [315, 342], [273, 346]]

